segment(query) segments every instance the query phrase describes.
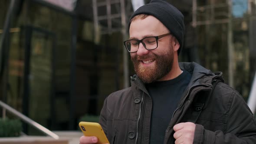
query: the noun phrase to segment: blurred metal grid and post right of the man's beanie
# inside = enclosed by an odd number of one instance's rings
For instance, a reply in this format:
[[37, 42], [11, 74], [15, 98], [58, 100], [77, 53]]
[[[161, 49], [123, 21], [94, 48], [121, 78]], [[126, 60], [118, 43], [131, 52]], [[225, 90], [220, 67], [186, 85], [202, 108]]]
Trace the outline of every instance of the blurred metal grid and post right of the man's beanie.
[[[228, 43], [228, 73], [229, 85], [234, 87], [234, 74], [233, 74], [233, 5], [242, 5], [237, 0], [225, 0], [220, 3], [220, 0], [209, 0], [209, 4], [198, 6], [198, 0], [192, 2], [192, 26], [206, 25], [210, 29], [212, 24], [227, 24], [227, 43]], [[224, 1], [224, 0], [223, 0]], [[252, 5], [255, 0], [248, 0], [248, 14], [252, 16]], [[252, 40], [252, 39], [251, 39]]]

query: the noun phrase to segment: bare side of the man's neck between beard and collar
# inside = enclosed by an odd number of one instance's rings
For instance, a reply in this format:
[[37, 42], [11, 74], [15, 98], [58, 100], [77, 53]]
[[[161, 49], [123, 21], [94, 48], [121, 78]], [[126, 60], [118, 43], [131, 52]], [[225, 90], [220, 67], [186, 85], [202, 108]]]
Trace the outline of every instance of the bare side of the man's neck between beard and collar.
[[158, 81], [167, 81], [167, 80], [174, 79], [177, 76], [181, 75], [181, 73], [182, 73], [182, 70], [181, 70], [181, 68], [179, 66], [178, 56], [174, 55], [174, 62], [173, 62], [171, 71], [168, 72], [167, 75], [165, 75], [164, 77], [162, 77]]

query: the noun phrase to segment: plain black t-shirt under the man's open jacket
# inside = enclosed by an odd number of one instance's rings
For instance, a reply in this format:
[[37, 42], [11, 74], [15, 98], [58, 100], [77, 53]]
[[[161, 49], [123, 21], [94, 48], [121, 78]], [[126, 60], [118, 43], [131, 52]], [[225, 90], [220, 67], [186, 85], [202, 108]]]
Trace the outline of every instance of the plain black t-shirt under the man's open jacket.
[[185, 70], [175, 79], [146, 84], [153, 101], [150, 127], [150, 144], [163, 144], [165, 130], [171, 121], [191, 74]]

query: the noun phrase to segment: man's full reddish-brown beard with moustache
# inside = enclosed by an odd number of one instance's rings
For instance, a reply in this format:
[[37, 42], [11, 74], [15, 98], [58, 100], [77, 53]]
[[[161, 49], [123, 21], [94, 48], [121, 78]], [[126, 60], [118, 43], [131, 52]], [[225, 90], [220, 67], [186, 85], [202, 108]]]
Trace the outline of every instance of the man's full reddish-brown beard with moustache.
[[[151, 67], [144, 67], [140, 64], [141, 60], [138, 59], [154, 59], [154, 65], [151, 65]], [[146, 56], [136, 55], [131, 57], [131, 61], [133, 62], [135, 72], [142, 82], [155, 82], [171, 71], [174, 61], [173, 47], [170, 45], [168, 51], [161, 55], [156, 55], [154, 53], [150, 53]]]

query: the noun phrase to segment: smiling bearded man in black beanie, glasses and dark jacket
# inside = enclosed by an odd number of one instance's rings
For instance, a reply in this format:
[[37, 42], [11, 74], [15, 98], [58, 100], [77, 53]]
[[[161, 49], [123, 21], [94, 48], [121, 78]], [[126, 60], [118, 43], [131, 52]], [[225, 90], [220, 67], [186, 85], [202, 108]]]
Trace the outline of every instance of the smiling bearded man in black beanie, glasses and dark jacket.
[[[163, 0], [140, 7], [129, 20], [137, 75], [131, 87], [105, 99], [99, 123], [111, 144], [256, 144], [256, 121], [222, 73], [178, 63], [184, 17]], [[81, 137], [93, 144], [97, 137]]]

